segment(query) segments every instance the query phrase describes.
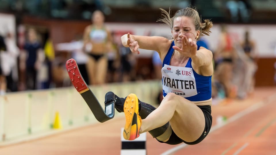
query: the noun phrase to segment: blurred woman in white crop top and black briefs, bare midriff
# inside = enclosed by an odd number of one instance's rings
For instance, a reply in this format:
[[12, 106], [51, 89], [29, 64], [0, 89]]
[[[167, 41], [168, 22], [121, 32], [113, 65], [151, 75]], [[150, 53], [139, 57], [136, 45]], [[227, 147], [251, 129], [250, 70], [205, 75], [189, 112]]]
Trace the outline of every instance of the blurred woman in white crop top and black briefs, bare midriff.
[[89, 55], [87, 71], [89, 84], [104, 84], [106, 81], [108, 58], [111, 48], [111, 34], [104, 24], [104, 14], [97, 10], [92, 14], [92, 24], [87, 26], [83, 35], [84, 50]]

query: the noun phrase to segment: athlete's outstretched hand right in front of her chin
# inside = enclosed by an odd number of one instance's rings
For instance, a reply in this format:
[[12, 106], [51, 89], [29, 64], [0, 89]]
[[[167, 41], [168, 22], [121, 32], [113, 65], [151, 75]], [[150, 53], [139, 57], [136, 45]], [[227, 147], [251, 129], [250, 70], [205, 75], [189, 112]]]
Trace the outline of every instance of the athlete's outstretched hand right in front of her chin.
[[173, 46], [173, 49], [185, 54], [187, 57], [195, 56], [198, 48], [196, 41], [193, 41], [191, 38], [188, 39], [186, 36], [183, 36], [181, 41], [181, 48]]

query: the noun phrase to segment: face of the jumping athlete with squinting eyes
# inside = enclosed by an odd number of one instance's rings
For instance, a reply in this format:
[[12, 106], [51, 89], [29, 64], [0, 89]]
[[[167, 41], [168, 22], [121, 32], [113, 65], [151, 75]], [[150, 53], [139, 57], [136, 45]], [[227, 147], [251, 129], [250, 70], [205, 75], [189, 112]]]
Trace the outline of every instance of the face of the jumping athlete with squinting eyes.
[[182, 16], [174, 19], [173, 22], [173, 40], [175, 45], [179, 48], [182, 46], [181, 38], [186, 36], [188, 39], [191, 38], [193, 41], [196, 41], [196, 38], [199, 36], [200, 31], [195, 30], [195, 25], [193, 24], [193, 19]]

